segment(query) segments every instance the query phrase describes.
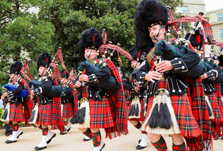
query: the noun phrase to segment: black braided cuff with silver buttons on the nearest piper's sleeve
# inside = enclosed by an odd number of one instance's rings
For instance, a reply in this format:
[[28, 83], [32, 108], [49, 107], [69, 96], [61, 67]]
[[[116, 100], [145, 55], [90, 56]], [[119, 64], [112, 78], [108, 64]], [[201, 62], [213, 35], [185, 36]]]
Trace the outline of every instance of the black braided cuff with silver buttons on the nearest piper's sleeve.
[[170, 61], [174, 67], [174, 71], [176, 72], [187, 72], [188, 68], [187, 65], [183, 62], [180, 58], [174, 58]]

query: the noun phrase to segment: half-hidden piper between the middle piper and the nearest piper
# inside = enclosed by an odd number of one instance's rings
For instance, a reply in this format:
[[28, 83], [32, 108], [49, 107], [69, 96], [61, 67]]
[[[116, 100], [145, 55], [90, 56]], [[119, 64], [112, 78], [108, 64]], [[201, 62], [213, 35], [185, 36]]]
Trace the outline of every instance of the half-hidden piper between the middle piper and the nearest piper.
[[[133, 71], [130, 73], [128, 80], [124, 82], [124, 88], [130, 91], [130, 96], [127, 98], [129, 103], [129, 121], [137, 129], [140, 130], [145, 120], [145, 106], [144, 102], [144, 87], [139, 87], [139, 82], [136, 80], [136, 73], [139, 70], [141, 63], [146, 59], [146, 53], [138, 50], [135, 46], [129, 51], [129, 54], [134, 59], [131, 61]], [[129, 84], [130, 83], [130, 84]], [[147, 132], [142, 131], [139, 144], [136, 146], [137, 150], [147, 147]]]

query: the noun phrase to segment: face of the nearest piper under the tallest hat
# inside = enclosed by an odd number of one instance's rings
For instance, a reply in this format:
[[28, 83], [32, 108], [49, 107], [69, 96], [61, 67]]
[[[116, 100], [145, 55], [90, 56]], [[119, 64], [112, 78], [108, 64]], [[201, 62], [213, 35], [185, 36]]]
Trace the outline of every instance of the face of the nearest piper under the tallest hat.
[[165, 28], [162, 28], [160, 25], [155, 25], [149, 28], [148, 30], [149, 36], [152, 39], [153, 43], [157, 43], [157, 40], [155, 39], [156, 36], [159, 40], [164, 40]]

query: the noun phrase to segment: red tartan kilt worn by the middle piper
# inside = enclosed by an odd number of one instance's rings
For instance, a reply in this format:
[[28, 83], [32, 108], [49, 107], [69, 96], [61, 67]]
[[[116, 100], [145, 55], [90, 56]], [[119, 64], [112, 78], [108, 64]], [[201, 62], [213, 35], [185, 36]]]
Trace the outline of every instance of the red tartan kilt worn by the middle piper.
[[108, 98], [102, 101], [89, 99], [90, 128], [109, 128], [114, 126]]

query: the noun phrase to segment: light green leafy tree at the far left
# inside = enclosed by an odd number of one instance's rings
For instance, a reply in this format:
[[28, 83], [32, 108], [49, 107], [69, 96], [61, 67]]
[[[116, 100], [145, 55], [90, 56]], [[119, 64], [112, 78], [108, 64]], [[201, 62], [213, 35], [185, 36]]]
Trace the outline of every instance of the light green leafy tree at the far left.
[[[53, 52], [52, 35], [54, 27], [50, 22], [41, 20], [30, 9], [39, 7], [41, 0], [1, 0], [0, 1], [0, 68], [7, 72], [15, 60], [24, 62], [21, 52], [25, 51], [36, 64], [38, 55]], [[36, 66], [33, 66], [35, 68]], [[34, 71], [34, 69], [31, 69]], [[36, 70], [36, 69], [35, 69]], [[0, 76], [6, 74], [0, 73]], [[0, 81], [3, 85], [7, 81]]]

